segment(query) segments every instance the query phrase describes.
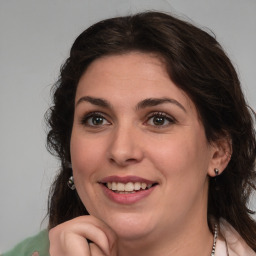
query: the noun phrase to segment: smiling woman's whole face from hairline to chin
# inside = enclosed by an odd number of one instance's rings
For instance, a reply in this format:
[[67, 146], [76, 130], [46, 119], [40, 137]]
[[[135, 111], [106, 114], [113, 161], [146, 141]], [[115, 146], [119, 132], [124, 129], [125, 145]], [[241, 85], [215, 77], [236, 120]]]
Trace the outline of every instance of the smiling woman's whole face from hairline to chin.
[[195, 105], [156, 56], [103, 57], [81, 77], [75, 185], [88, 212], [118, 236], [168, 235], [206, 219], [212, 157]]

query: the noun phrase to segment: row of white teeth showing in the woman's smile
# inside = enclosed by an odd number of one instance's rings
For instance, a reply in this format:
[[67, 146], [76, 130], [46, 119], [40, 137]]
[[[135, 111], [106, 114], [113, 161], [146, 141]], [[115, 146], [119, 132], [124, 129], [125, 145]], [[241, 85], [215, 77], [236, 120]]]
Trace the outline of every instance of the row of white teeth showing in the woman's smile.
[[145, 182], [128, 182], [128, 183], [121, 183], [121, 182], [108, 182], [107, 187], [116, 192], [123, 192], [124, 194], [133, 193], [138, 190], [145, 190], [146, 188], [151, 188], [152, 184], [146, 184]]

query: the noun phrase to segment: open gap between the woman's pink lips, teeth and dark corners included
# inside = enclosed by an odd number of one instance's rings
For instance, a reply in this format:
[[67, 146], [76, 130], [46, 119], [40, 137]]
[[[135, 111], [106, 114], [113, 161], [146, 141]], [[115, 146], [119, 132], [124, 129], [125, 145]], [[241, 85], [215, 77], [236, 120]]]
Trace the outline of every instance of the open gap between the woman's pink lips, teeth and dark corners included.
[[140, 191], [145, 191], [150, 189], [153, 186], [156, 186], [157, 183], [145, 183], [145, 182], [107, 182], [101, 183], [109, 190], [113, 191], [114, 193], [118, 194], [134, 194]]

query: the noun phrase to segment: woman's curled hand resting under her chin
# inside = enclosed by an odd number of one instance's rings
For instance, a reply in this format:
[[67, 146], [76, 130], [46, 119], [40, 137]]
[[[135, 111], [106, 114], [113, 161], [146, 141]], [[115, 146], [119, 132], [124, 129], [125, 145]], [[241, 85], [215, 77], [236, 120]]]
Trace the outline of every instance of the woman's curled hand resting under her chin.
[[54, 227], [49, 239], [51, 256], [117, 255], [115, 233], [94, 216], [80, 216]]

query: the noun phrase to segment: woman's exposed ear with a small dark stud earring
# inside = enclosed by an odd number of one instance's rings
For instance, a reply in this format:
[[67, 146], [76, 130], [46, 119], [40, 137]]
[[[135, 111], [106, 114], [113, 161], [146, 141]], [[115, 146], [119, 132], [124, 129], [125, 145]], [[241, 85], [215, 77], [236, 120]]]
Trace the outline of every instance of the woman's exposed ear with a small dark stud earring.
[[211, 142], [211, 160], [208, 168], [208, 175], [216, 176], [215, 169], [221, 174], [227, 167], [232, 155], [232, 141], [229, 136], [224, 136], [218, 140]]

